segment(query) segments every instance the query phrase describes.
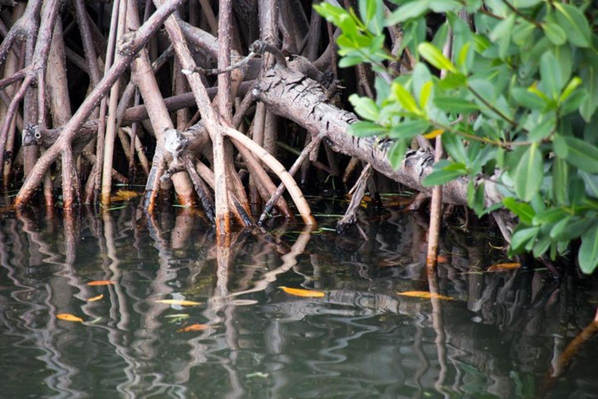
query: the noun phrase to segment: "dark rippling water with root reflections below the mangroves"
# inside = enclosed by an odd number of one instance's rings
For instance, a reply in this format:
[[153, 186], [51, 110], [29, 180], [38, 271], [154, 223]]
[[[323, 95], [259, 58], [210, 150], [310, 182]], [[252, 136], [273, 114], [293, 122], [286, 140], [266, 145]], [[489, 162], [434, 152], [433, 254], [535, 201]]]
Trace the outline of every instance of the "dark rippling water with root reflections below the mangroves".
[[[483, 228], [446, 229], [428, 281], [425, 230], [398, 209], [360, 214], [362, 234], [240, 234], [228, 257], [183, 209], [154, 220], [133, 207], [72, 223], [2, 217], [2, 398], [598, 397], [597, 336], [562, 362], [594, 317], [596, 282], [481, 273], [507, 261]], [[396, 294], [430, 285], [454, 300]], [[213, 328], [178, 332], [192, 324]]]

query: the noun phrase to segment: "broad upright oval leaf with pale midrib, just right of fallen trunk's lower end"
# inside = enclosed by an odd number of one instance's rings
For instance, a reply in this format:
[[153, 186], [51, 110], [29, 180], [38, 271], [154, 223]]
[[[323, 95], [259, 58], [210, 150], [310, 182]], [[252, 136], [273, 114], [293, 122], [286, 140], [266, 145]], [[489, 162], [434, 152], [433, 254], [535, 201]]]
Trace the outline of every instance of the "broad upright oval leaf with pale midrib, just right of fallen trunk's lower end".
[[538, 143], [533, 143], [521, 157], [513, 176], [515, 193], [525, 202], [529, 202], [542, 185], [543, 165]]

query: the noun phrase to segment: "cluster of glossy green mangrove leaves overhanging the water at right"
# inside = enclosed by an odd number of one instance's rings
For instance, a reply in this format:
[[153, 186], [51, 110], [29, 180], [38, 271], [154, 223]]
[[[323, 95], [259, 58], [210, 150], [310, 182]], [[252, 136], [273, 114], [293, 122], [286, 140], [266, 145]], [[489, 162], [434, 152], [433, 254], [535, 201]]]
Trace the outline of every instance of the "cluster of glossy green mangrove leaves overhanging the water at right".
[[[496, 182], [503, 205], [520, 220], [511, 254], [554, 258], [581, 239], [579, 265], [592, 273], [598, 266], [596, 8], [579, 0], [393, 2], [385, 14], [383, 2], [360, 0], [359, 16], [315, 6], [341, 29], [339, 65], [368, 63], [377, 74], [375, 101], [350, 98], [367, 120], [350, 132], [395, 140], [393, 167], [414, 136], [442, 135], [449, 157], [425, 185], [467, 176], [469, 206], [481, 215], [491, 210], [484, 181]], [[459, 17], [464, 13], [471, 24]], [[403, 38], [393, 55], [384, 28], [398, 24]], [[410, 59], [417, 60], [413, 70], [392, 78], [388, 62]]]

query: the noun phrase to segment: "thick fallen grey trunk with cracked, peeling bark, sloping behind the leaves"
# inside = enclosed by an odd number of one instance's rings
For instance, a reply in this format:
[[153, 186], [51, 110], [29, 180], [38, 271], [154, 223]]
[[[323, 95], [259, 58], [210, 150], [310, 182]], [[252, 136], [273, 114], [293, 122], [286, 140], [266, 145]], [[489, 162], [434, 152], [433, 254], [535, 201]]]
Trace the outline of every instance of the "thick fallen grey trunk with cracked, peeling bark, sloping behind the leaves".
[[[371, 166], [411, 189], [431, 192], [424, 187], [423, 178], [432, 172], [434, 154], [423, 150], [408, 150], [398, 169], [393, 169], [387, 157], [390, 142], [379, 142], [376, 138], [356, 138], [349, 135], [349, 125], [358, 118], [352, 112], [337, 108], [328, 101], [327, 90], [316, 81], [293, 70], [293, 62], [288, 69], [272, 68], [257, 81], [253, 92], [266, 108], [289, 118], [307, 129], [313, 136], [325, 132], [325, 140], [332, 150], [358, 157]], [[468, 179], [460, 178], [443, 186], [444, 202], [459, 205], [467, 204]], [[502, 195], [493, 182], [486, 182], [486, 203], [500, 202]]]

